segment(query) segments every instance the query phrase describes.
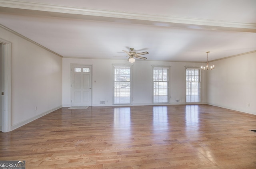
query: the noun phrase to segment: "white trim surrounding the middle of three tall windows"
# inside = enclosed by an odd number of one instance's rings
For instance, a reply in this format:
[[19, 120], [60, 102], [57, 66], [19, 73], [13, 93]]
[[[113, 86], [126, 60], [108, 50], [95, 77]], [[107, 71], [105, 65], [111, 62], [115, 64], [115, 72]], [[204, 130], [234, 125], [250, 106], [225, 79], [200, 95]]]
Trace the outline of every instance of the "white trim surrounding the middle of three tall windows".
[[[171, 68], [171, 65], [151, 65], [152, 66], [152, 104], [169, 104], [170, 103], [170, 68]], [[167, 99], [168, 101], [167, 102], [163, 102], [163, 103], [154, 103], [154, 68], [167, 68], [168, 69], [168, 96], [167, 96]]]

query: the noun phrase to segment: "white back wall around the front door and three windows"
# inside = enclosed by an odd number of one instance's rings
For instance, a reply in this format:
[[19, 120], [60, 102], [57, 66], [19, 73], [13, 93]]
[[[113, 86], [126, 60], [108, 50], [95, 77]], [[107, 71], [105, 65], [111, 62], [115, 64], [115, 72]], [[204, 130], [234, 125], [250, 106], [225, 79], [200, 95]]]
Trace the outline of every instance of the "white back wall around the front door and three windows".
[[[126, 59], [74, 59], [63, 58], [62, 62], [62, 104], [71, 106], [71, 64], [93, 65], [92, 71], [92, 106], [112, 106], [112, 64], [130, 64]], [[140, 61], [133, 63], [133, 102], [132, 105], [152, 105], [152, 65], [171, 65], [170, 68], [170, 104], [185, 102], [185, 66], [200, 66], [201, 63]], [[204, 78], [204, 73], [202, 75]], [[96, 82], [94, 82], [96, 81]], [[203, 94], [205, 82], [203, 81]], [[176, 103], [180, 99], [182, 102]], [[202, 102], [206, 102], [203, 96]], [[105, 101], [105, 104], [100, 104]]]

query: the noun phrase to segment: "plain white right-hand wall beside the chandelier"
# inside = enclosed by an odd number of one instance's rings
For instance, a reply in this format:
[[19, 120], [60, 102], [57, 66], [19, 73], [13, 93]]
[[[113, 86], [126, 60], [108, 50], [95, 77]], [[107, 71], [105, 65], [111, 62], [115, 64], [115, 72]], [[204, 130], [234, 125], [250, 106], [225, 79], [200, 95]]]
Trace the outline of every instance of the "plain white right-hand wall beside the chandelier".
[[214, 65], [214, 71], [207, 73], [208, 104], [256, 114], [256, 52]]

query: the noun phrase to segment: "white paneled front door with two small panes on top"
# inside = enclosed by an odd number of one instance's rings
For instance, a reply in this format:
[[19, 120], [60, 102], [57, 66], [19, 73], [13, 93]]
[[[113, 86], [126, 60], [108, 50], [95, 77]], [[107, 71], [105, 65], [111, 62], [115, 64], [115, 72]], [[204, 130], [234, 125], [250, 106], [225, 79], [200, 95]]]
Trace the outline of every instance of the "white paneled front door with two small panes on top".
[[72, 106], [92, 105], [92, 66], [72, 65]]

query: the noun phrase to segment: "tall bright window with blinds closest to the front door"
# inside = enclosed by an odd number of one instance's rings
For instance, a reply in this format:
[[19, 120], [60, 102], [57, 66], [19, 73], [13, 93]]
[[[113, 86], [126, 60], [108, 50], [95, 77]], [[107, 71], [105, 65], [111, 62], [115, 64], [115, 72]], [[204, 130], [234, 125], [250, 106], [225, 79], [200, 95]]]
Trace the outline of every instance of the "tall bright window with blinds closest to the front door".
[[114, 66], [114, 104], [131, 104], [131, 66]]

